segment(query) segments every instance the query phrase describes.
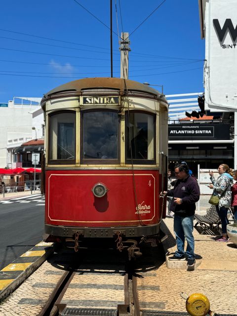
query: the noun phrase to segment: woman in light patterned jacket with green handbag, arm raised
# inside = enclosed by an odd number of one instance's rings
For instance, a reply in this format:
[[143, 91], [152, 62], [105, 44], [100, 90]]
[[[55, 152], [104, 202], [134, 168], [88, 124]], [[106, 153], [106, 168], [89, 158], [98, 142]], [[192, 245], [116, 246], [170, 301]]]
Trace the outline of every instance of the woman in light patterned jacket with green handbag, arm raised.
[[208, 187], [213, 189], [214, 196], [219, 197], [216, 211], [221, 220], [222, 237], [216, 239], [217, 241], [228, 241], [226, 227], [227, 224], [229, 224], [229, 220], [227, 218], [227, 213], [231, 206], [231, 184], [233, 183], [233, 177], [229, 174], [229, 170], [230, 168], [227, 164], [220, 164], [218, 167], [219, 177], [217, 179], [213, 177], [213, 171], [209, 172], [212, 184]]

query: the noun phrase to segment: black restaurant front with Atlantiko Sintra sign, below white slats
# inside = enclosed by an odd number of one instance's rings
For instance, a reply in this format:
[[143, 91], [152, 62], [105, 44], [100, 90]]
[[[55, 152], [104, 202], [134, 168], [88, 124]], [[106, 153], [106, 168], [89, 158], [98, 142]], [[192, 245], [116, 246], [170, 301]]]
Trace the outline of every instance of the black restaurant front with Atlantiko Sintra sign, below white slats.
[[[214, 117], [215, 118], [215, 117]], [[203, 169], [216, 169], [220, 163], [234, 167], [234, 120], [181, 118], [168, 125], [169, 168], [186, 161], [197, 175], [197, 165]]]

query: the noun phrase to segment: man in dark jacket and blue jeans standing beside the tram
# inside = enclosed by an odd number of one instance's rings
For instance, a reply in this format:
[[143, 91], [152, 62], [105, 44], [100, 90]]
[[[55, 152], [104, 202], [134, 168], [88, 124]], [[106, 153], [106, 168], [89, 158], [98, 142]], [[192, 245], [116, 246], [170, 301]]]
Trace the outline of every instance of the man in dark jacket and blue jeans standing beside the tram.
[[[195, 266], [194, 253], [194, 214], [199, 200], [200, 190], [197, 180], [190, 176], [187, 164], [178, 164], [174, 169], [177, 181], [174, 188], [169, 190], [167, 196], [173, 197], [170, 210], [174, 212], [174, 234], [176, 236], [177, 250], [169, 260], [183, 261], [187, 257], [187, 265]], [[187, 240], [187, 249], [184, 251], [185, 238]]]

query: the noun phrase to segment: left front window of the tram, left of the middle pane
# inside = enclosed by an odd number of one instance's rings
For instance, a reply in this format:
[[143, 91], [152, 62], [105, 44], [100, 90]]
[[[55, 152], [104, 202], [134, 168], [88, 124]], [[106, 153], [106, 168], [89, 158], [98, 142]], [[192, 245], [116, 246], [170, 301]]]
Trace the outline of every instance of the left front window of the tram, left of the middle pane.
[[50, 160], [75, 160], [75, 114], [50, 117]]

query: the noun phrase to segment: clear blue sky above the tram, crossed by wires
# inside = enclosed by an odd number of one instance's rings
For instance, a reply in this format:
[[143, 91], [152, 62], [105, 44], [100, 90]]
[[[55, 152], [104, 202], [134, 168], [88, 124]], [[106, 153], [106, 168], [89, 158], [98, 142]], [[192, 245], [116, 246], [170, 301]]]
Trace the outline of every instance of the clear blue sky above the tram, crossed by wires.
[[[203, 91], [197, 0], [112, 2], [114, 77], [120, 77], [118, 34], [123, 31], [131, 34], [129, 79], [163, 85], [164, 94]], [[80, 78], [110, 77], [109, 27], [110, 0], [3, 1], [0, 103], [14, 96], [42, 97]]]

